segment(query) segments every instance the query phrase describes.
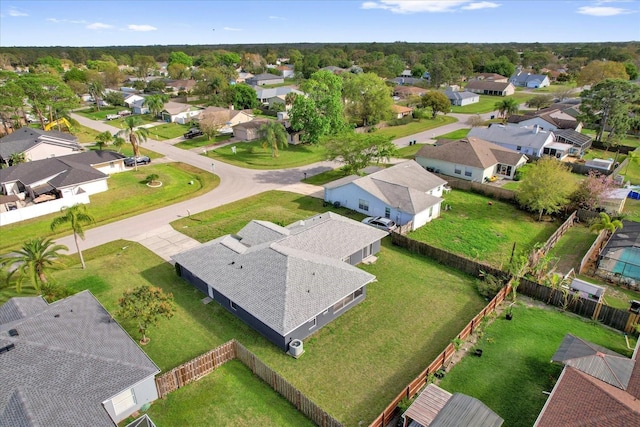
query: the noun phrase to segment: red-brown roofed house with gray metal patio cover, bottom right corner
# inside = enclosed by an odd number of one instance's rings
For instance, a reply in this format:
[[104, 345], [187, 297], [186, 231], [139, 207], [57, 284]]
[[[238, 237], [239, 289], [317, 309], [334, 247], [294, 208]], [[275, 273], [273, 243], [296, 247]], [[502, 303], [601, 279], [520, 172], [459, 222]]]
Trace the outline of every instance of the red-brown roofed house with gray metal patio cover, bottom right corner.
[[574, 335], [551, 358], [564, 369], [534, 427], [640, 425], [638, 346], [631, 359]]

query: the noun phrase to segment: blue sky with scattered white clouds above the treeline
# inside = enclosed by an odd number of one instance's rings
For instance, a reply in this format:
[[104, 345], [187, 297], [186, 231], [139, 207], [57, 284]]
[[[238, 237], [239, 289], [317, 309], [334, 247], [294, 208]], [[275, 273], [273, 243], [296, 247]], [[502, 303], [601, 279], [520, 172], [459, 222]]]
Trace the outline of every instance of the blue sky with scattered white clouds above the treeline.
[[0, 47], [640, 40], [640, 0], [0, 0]]

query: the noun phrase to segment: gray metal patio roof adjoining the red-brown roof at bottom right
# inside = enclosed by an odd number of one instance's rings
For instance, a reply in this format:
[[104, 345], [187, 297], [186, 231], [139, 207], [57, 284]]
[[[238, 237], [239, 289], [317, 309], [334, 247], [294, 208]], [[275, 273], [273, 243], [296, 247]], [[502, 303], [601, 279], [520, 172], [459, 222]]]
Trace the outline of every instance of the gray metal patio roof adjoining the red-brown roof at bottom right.
[[574, 335], [565, 335], [551, 358], [594, 378], [626, 390], [635, 361]]

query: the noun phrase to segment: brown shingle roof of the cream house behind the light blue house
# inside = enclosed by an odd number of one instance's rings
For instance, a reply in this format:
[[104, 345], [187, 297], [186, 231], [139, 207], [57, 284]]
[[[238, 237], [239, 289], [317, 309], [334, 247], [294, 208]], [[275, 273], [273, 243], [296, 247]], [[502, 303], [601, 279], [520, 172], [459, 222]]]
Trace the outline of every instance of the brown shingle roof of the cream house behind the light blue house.
[[416, 153], [416, 157], [482, 169], [487, 169], [498, 163], [516, 165], [523, 156], [522, 153], [474, 137], [462, 138], [457, 141], [438, 140], [436, 145], [424, 145]]

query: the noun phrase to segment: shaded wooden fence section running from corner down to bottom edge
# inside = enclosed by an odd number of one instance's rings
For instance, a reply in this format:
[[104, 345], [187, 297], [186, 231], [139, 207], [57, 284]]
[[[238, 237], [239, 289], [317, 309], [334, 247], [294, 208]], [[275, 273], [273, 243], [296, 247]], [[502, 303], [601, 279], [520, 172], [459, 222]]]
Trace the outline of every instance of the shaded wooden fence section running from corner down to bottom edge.
[[269, 384], [271, 388], [277, 391], [282, 397], [287, 399], [298, 411], [305, 414], [307, 418], [321, 427], [342, 427], [342, 424], [338, 420], [313, 403], [311, 399], [302, 394], [300, 390], [292, 386], [276, 371], [264, 364], [255, 354], [247, 350], [245, 346], [237, 341], [234, 342], [238, 360], [251, 369], [251, 371], [264, 382]]

